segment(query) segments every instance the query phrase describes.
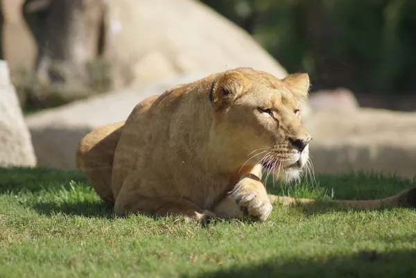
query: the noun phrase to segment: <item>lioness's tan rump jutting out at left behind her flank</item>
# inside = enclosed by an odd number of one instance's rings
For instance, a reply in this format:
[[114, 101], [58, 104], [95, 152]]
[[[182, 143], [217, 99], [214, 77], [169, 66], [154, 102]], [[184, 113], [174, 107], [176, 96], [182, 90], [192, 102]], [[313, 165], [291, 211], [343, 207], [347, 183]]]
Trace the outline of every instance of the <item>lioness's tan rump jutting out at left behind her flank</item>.
[[114, 153], [125, 121], [89, 132], [78, 144], [76, 166], [104, 202], [114, 202], [111, 188]]

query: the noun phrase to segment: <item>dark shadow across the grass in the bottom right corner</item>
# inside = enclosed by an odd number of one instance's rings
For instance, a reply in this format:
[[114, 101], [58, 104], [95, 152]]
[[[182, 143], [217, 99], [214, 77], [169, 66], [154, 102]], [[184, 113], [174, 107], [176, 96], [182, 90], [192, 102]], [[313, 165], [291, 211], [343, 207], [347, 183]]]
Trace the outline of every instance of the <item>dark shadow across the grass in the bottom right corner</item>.
[[[199, 277], [416, 277], [416, 250], [375, 252], [364, 250], [349, 257], [313, 260], [272, 259], [249, 267], [233, 266]], [[182, 276], [187, 277], [187, 276]]]

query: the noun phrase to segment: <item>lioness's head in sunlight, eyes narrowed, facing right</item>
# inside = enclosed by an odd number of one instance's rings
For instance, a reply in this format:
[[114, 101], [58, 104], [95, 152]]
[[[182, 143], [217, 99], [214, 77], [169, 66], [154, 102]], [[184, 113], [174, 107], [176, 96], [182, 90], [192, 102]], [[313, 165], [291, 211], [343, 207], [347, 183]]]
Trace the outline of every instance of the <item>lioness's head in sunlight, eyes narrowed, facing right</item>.
[[299, 177], [309, 161], [312, 139], [301, 123], [300, 101], [308, 92], [306, 73], [281, 80], [245, 68], [221, 73], [210, 92], [213, 148], [223, 153], [227, 165], [261, 164], [281, 180]]

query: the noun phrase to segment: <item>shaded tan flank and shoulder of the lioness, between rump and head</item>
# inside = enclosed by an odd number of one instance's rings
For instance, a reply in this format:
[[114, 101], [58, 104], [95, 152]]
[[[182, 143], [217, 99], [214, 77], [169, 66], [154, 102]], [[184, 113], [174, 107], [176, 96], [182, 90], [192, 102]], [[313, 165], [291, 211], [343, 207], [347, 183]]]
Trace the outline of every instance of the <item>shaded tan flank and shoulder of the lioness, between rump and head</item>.
[[202, 209], [232, 189], [229, 175], [209, 162], [209, 99], [186, 94], [188, 86], [147, 99], [130, 114], [114, 155], [114, 198], [129, 175], [141, 198], [177, 196]]

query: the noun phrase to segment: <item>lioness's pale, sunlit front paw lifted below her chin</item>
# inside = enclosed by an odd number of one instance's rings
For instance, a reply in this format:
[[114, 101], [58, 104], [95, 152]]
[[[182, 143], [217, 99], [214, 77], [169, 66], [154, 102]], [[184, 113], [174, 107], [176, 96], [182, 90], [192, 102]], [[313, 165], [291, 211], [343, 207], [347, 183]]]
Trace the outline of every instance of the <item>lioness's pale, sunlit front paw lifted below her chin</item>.
[[241, 177], [228, 198], [234, 200], [243, 213], [260, 221], [266, 220], [272, 211], [272, 204], [263, 183], [252, 175]]

